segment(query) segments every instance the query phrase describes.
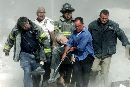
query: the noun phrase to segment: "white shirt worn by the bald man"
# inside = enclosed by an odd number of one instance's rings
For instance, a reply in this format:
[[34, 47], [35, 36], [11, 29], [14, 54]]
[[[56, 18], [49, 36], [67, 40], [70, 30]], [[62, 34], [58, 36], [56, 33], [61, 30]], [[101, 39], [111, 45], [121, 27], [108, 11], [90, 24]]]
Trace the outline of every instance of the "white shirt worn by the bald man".
[[45, 19], [43, 21], [41, 21], [41, 22], [39, 22], [38, 20], [35, 19], [34, 23], [39, 25], [44, 30], [44, 32], [48, 36], [48, 39], [50, 40], [49, 32], [54, 31], [54, 22], [53, 22], [53, 20], [51, 20], [48, 17], [45, 17]]

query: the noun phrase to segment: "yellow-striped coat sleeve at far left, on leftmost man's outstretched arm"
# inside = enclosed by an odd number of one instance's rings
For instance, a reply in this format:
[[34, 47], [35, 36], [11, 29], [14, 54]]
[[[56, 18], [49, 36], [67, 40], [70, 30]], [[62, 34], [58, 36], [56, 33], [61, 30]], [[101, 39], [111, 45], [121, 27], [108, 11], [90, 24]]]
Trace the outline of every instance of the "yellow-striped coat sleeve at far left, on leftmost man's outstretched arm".
[[16, 32], [17, 32], [17, 29], [16, 29], [16, 26], [15, 26], [12, 29], [12, 31], [10, 32], [10, 34], [7, 38], [7, 41], [5, 42], [4, 50], [10, 51], [10, 49], [13, 47], [15, 39], [16, 39]]

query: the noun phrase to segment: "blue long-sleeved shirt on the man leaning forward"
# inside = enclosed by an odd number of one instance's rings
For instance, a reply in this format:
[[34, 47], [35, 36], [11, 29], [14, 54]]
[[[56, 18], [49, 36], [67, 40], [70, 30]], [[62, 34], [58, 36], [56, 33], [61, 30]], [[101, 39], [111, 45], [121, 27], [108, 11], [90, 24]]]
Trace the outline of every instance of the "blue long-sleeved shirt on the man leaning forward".
[[70, 36], [67, 44], [68, 47], [76, 47], [74, 51], [75, 58], [77, 60], [85, 59], [88, 54], [94, 56], [94, 50], [92, 46], [92, 36], [86, 27], [78, 33], [74, 30], [73, 34]]

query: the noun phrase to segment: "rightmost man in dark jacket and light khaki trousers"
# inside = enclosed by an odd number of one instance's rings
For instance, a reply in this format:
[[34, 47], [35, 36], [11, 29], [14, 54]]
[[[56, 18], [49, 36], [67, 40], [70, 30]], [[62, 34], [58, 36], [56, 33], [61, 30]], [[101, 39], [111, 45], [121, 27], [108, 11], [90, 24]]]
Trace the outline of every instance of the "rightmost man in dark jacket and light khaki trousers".
[[109, 11], [106, 9], [101, 10], [99, 18], [89, 24], [89, 31], [93, 37], [95, 52], [95, 60], [92, 66], [93, 76], [94, 73], [96, 75], [100, 71], [101, 79], [99, 82], [101, 82], [101, 85], [99, 87], [108, 87], [109, 67], [112, 55], [116, 53], [117, 38], [123, 46], [129, 44], [128, 38], [117, 23], [109, 20]]

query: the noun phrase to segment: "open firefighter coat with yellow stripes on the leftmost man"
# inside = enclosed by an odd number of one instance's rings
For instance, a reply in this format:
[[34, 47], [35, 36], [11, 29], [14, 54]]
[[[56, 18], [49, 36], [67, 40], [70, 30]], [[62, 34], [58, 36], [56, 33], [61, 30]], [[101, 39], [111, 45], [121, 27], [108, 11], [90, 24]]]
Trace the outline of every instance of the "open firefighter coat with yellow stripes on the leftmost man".
[[[29, 23], [31, 24], [31, 27], [33, 29], [33, 32], [36, 34], [36, 39], [38, 40], [38, 43], [40, 44], [40, 48], [38, 52], [36, 53], [36, 58], [44, 60], [44, 52], [43, 52], [43, 46], [44, 40], [47, 39], [47, 36], [45, 32], [42, 30], [41, 27], [34, 24], [32, 21], [29, 20]], [[4, 49], [10, 51], [10, 49], [14, 46], [14, 61], [19, 61], [20, 57], [19, 54], [21, 52], [21, 27], [16, 24], [16, 26], [12, 29], [10, 32], [7, 41], [4, 45]]]

